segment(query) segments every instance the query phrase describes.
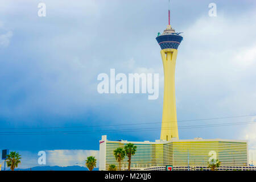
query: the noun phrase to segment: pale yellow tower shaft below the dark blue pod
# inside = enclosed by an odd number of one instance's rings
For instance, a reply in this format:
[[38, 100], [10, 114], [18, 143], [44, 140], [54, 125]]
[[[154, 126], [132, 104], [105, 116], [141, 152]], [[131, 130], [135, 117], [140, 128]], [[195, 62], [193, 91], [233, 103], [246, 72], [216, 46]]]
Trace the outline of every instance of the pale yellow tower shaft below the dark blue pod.
[[162, 49], [161, 56], [164, 68], [164, 99], [162, 117], [162, 140], [179, 139], [175, 100], [175, 65], [177, 49]]

